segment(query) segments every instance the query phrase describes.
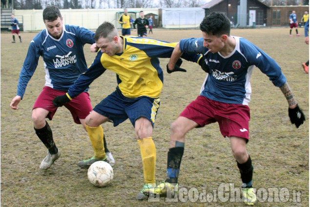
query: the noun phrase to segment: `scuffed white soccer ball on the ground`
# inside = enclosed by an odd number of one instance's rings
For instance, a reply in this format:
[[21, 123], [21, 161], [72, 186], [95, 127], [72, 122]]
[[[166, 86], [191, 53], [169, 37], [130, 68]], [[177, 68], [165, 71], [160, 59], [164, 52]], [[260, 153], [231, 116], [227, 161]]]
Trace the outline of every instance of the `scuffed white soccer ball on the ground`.
[[104, 161], [93, 163], [87, 172], [88, 180], [97, 187], [104, 187], [113, 180], [113, 168]]

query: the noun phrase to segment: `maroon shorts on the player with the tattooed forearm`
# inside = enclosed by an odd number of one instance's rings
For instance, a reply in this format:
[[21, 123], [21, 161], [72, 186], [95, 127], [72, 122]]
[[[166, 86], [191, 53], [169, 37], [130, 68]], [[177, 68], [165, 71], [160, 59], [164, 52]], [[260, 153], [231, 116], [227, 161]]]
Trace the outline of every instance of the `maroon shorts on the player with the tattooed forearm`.
[[214, 101], [199, 95], [180, 114], [203, 127], [218, 122], [225, 137], [237, 136], [248, 141], [250, 109], [247, 105]]

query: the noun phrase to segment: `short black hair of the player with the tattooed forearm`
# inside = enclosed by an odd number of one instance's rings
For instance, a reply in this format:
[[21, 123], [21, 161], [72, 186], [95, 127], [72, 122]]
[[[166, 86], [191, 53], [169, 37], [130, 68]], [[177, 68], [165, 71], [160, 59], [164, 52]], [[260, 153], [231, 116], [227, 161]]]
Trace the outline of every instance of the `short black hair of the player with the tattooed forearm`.
[[230, 35], [230, 21], [222, 12], [212, 12], [200, 23], [200, 30], [208, 35]]

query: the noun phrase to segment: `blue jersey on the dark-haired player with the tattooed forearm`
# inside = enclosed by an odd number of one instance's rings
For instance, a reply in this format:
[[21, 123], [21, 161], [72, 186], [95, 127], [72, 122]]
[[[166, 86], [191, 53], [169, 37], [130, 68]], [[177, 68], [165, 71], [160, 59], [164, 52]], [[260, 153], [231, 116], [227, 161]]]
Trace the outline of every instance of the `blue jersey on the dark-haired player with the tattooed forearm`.
[[280, 87], [286, 82], [280, 66], [265, 52], [245, 38], [233, 37], [235, 49], [228, 56], [212, 54], [203, 46], [203, 38], [188, 38], [180, 41], [180, 50], [186, 53], [201, 53], [206, 57], [210, 74], [203, 83], [200, 94], [209, 99], [248, 105], [251, 95], [250, 77], [254, 66], [269, 76]]

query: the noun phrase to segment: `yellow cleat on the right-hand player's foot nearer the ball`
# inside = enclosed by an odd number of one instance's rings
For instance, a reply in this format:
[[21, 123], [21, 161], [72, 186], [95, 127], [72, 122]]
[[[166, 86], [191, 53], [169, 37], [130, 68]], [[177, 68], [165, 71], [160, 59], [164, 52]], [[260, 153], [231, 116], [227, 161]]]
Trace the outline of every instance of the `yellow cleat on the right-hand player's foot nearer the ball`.
[[174, 195], [178, 194], [178, 184], [161, 182], [156, 186], [156, 188], [143, 190], [143, 194], [145, 194], [147, 197], [156, 197], [157, 194], [160, 197], [167, 197], [167, 195], [174, 197]]

